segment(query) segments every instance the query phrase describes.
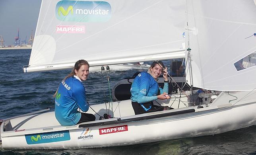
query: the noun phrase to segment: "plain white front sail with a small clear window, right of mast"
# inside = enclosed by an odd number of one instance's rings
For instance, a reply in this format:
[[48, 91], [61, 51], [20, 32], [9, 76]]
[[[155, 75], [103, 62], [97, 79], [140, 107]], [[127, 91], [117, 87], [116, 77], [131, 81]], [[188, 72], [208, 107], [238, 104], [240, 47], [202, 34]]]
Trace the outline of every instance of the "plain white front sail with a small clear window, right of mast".
[[219, 91], [256, 89], [256, 66], [238, 71], [234, 65], [256, 51], [254, 0], [186, 0], [186, 18], [188, 83]]

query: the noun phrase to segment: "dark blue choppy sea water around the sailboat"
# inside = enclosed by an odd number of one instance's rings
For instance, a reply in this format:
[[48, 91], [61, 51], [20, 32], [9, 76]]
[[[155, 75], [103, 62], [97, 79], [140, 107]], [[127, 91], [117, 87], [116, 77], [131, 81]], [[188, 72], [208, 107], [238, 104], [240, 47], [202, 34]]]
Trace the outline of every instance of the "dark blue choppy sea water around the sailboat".
[[[70, 70], [23, 73], [23, 65], [29, 62], [31, 50], [0, 50], [0, 119], [17, 116], [54, 106], [55, 93], [60, 81]], [[124, 77], [131, 77], [135, 70], [116, 71], [110, 76], [110, 87]], [[104, 102], [104, 90], [108, 95], [106, 74], [90, 73], [85, 81], [90, 104]], [[107, 100], [107, 99], [106, 99]], [[108, 100], [107, 100], [108, 101]], [[231, 116], [232, 117], [232, 116]], [[162, 132], [168, 129], [159, 129]], [[256, 126], [214, 136], [184, 138], [155, 143], [97, 149], [66, 150], [2, 150], [6, 155], [169, 155], [169, 154], [249, 154], [256, 155]]]

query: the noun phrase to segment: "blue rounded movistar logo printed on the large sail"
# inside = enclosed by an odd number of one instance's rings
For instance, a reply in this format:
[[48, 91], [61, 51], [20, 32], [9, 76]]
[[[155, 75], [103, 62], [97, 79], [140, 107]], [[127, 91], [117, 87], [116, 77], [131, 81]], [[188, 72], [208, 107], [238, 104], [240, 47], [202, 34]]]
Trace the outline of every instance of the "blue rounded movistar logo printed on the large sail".
[[111, 18], [111, 6], [103, 1], [62, 0], [56, 4], [55, 16], [61, 21], [105, 22]]

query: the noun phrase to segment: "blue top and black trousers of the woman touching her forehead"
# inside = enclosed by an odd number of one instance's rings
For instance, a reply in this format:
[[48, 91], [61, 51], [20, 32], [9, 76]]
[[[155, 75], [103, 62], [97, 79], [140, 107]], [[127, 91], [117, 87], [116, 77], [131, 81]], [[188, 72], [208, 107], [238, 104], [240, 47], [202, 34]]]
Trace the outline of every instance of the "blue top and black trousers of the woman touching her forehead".
[[164, 83], [163, 89], [157, 81], [147, 72], [141, 72], [135, 77], [130, 92], [132, 94], [132, 107], [135, 114], [162, 111], [163, 107], [153, 105], [152, 101], [157, 100], [157, 94], [164, 92], [168, 94], [168, 83]]

